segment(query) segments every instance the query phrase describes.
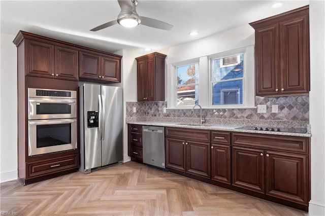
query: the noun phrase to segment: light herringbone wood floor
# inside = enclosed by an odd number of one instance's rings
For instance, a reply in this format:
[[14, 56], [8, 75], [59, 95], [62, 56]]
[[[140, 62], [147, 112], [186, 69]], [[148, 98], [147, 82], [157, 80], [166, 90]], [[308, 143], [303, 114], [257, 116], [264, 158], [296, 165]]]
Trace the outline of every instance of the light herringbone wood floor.
[[11, 215], [308, 215], [132, 161], [0, 186], [0, 210]]

